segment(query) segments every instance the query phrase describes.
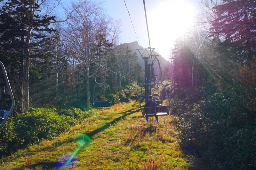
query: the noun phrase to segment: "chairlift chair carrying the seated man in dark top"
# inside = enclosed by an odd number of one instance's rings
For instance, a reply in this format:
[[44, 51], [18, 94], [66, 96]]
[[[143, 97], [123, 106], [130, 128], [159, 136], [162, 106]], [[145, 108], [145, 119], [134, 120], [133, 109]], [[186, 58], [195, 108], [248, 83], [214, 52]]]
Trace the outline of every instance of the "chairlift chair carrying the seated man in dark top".
[[[142, 97], [143, 88], [147, 88], [147, 87], [151, 88], [152, 86], [159, 87], [160, 85], [162, 85], [162, 87], [164, 89], [164, 92], [166, 93], [166, 97], [167, 97], [167, 100], [168, 100], [168, 105], [164, 105], [164, 106], [159, 105], [159, 106], [156, 106], [156, 107], [142, 107], [141, 106], [141, 103], [142, 103], [141, 97]], [[141, 110], [141, 113], [142, 113], [143, 117], [167, 116], [167, 115], [169, 115], [170, 100], [169, 100], [166, 88], [165, 88], [163, 83], [154, 82], [154, 83], [147, 83], [147, 84], [141, 85], [141, 88], [140, 88], [140, 110]]]

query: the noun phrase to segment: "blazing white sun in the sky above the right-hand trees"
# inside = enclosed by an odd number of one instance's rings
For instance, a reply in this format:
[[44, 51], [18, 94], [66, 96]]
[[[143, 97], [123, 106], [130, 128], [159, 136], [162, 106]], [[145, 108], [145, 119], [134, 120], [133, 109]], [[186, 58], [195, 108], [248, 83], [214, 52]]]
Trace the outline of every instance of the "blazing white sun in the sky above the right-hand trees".
[[[188, 0], [166, 0], [148, 12], [151, 47], [168, 55], [173, 41], [182, 36], [194, 21], [195, 8]], [[164, 52], [165, 51], [165, 52]], [[163, 56], [165, 57], [165, 56]]]

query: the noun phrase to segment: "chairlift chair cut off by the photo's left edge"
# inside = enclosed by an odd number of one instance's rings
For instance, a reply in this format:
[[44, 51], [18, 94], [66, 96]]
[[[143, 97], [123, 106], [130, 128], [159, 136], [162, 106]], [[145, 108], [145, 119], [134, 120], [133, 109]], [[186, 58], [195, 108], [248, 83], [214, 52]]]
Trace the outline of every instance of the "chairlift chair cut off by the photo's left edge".
[[[7, 77], [5, 68], [4, 68], [4, 64], [0, 61], [0, 65], [2, 68], [2, 74], [3, 77], [0, 77], [0, 81], [1, 81], [1, 88], [0, 88], [0, 98], [1, 98], [1, 107], [0, 107], [0, 129], [4, 126], [4, 124], [6, 123], [7, 119], [9, 118], [9, 116], [12, 113], [12, 110], [14, 108], [14, 97], [13, 97], [13, 93], [12, 93], [12, 88], [9, 82], [9, 79]], [[1, 80], [2, 79], [2, 80]], [[5, 83], [4, 83], [5, 81]], [[9, 110], [6, 110], [8, 106], [5, 106], [5, 99], [3, 99], [2, 96], [8, 94], [8, 96], [10, 96], [12, 104]], [[4, 105], [4, 106], [3, 106]]]

